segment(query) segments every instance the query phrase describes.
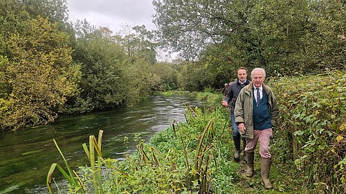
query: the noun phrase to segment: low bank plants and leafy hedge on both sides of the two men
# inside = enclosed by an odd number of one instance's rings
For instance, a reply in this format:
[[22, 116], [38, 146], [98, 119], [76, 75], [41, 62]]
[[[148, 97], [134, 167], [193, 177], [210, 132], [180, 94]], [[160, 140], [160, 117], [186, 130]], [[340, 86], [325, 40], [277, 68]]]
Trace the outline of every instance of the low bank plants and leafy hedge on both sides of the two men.
[[[271, 145], [274, 189], [268, 193], [345, 191], [345, 83], [345, 72], [338, 70], [268, 81], [280, 106]], [[205, 92], [197, 98], [208, 101], [208, 108], [187, 106], [186, 122], [173, 123], [149, 144], [137, 135], [138, 151], [121, 162], [102, 158], [101, 131], [98, 141], [91, 136], [89, 149], [83, 145], [91, 166], [72, 171], [65, 161], [69, 174], [59, 166], [69, 180], [69, 192], [263, 193], [259, 171], [248, 178], [243, 175], [245, 164], [233, 162], [230, 121], [220, 103], [222, 96]], [[50, 189], [55, 165], [47, 177]]]

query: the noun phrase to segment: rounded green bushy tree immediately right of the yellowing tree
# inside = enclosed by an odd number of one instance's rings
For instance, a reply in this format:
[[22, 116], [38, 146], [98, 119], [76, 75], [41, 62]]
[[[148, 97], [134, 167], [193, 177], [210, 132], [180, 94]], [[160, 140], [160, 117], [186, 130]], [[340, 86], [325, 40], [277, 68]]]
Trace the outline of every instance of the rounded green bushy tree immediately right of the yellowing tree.
[[125, 104], [131, 91], [127, 55], [108, 28], [95, 29], [87, 21], [75, 26], [77, 47], [73, 59], [81, 64], [81, 93], [70, 99], [71, 112], [114, 108]]

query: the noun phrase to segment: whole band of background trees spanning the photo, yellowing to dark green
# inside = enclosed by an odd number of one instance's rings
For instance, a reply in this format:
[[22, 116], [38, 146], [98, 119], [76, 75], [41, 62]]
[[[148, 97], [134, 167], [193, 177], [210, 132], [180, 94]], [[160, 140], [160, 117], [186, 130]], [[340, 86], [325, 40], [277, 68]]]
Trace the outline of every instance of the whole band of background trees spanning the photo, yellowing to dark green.
[[[158, 30], [69, 23], [66, 0], [0, 1], [0, 130], [133, 104], [155, 90], [221, 88], [345, 69], [345, 1], [154, 1]], [[298, 11], [300, 10], [300, 11]], [[181, 54], [158, 62], [156, 50]]]

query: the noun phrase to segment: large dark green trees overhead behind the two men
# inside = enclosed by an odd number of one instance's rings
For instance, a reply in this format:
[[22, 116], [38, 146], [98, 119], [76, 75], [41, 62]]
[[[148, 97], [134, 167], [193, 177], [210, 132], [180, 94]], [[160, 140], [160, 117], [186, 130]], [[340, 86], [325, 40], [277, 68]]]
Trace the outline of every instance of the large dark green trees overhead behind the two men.
[[[179, 86], [220, 88], [240, 66], [266, 68], [268, 77], [345, 66], [343, 1], [154, 1], [165, 47], [187, 63]], [[300, 10], [297, 12], [296, 10]], [[233, 79], [231, 79], [233, 80]]]

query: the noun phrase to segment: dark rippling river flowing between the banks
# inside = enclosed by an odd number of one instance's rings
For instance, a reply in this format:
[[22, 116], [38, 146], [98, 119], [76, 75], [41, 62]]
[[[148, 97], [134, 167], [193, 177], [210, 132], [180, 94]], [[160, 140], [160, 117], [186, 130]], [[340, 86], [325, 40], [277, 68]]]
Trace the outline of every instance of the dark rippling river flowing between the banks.
[[[196, 106], [190, 97], [149, 97], [134, 106], [116, 110], [64, 115], [54, 123], [34, 128], [0, 133], [0, 194], [48, 193], [46, 175], [51, 164], [64, 168], [57, 142], [71, 167], [88, 164], [82, 144], [89, 144], [89, 135], [98, 137], [103, 130], [102, 153], [105, 158], [122, 159], [125, 152], [134, 152], [134, 135], [149, 140], [154, 133], [172, 122], [185, 122], [185, 103]], [[129, 144], [123, 144], [124, 137]], [[60, 177], [55, 169], [54, 177]]]

